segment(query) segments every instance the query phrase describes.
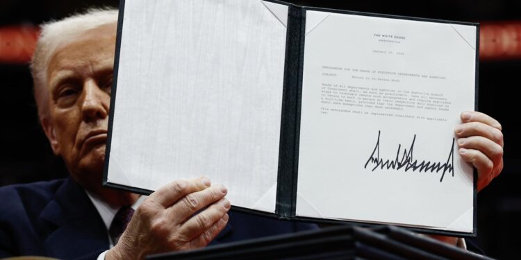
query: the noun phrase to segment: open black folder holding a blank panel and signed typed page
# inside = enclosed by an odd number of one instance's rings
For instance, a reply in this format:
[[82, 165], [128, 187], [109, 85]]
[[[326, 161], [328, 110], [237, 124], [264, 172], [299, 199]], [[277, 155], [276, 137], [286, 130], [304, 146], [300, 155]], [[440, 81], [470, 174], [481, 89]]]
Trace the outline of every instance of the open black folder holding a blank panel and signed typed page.
[[120, 2], [104, 183], [206, 175], [235, 209], [475, 235], [454, 126], [478, 25], [260, 0]]

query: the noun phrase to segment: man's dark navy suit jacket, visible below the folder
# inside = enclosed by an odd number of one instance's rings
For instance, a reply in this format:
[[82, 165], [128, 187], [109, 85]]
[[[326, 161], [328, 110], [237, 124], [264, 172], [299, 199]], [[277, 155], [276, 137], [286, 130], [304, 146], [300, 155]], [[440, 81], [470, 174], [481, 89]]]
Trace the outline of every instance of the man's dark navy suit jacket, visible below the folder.
[[[108, 250], [101, 216], [70, 177], [2, 187], [0, 198], [0, 258], [96, 259]], [[233, 211], [229, 216], [229, 224], [211, 244], [317, 228]]]

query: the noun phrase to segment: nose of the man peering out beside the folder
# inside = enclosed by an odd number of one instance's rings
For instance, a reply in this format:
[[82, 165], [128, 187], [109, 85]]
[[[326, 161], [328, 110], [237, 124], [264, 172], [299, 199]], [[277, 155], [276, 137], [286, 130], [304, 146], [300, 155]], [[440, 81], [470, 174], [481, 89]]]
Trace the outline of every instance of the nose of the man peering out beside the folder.
[[83, 121], [96, 121], [108, 115], [108, 94], [100, 89], [95, 80], [88, 79], [83, 84]]

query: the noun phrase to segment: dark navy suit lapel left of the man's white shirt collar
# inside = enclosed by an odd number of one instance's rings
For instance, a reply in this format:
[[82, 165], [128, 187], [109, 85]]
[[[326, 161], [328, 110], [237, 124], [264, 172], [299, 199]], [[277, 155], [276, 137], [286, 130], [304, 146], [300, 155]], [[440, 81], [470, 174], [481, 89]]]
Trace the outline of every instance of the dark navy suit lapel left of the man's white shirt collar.
[[47, 255], [64, 259], [108, 250], [108, 235], [94, 205], [71, 177], [40, 214], [54, 229], [44, 240]]

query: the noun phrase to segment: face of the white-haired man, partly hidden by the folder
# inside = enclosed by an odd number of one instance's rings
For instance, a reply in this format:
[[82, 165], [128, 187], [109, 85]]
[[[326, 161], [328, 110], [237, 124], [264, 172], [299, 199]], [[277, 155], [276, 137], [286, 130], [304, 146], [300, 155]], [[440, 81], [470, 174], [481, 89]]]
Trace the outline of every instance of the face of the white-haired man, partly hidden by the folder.
[[49, 120], [42, 122], [56, 155], [83, 187], [101, 185], [113, 79], [115, 24], [60, 46], [47, 70]]

